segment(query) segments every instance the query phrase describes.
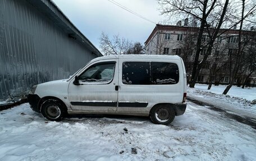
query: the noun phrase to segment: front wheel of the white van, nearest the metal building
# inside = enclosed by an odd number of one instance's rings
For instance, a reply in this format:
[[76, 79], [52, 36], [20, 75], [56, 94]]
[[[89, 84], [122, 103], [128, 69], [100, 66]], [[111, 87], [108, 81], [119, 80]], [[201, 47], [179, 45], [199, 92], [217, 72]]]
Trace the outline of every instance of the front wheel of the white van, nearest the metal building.
[[48, 99], [41, 106], [41, 113], [50, 121], [61, 121], [65, 116], [65, 108], [60, 100]]

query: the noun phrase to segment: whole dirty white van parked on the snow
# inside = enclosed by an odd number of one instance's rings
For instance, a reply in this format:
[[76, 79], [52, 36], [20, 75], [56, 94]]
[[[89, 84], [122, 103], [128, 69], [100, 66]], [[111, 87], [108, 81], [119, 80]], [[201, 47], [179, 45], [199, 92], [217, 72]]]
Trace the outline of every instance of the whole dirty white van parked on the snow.
[[186, 109], [186, 72], [179, 56], [95, 58], [66, 80], [33, 86], [30, 107], [51, 121], [65, 114], [149, 116], [168, 125]]

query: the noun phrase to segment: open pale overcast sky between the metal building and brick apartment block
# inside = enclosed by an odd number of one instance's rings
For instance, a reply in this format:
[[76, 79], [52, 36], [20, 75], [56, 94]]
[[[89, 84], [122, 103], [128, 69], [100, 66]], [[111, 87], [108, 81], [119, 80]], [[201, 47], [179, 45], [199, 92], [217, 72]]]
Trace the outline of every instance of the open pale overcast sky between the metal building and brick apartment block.
[[[97, 48], [102, 32], [109, 36], [119, 34], [120, 37], [144, 44], [156, 26], [108, 0], [52, 1]], [[156, 0], [115, 1], [153, 22], [163, 20]]]

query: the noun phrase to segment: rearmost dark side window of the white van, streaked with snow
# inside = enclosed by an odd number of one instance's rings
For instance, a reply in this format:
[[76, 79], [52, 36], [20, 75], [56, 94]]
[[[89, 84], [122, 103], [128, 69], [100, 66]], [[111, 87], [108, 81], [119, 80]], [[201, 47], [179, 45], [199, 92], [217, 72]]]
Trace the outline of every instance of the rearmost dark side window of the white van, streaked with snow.
[[152, 62], [152, 84], [177, 84], [179, 82], [179, 68], [175, 63]]

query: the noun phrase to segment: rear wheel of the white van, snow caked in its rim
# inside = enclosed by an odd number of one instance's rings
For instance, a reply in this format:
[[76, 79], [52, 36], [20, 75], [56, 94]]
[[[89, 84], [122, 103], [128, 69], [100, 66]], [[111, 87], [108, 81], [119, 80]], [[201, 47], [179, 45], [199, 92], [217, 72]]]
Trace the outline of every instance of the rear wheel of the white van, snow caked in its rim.
[[153, 123], [169, 125], [175, 118], [175, 111], [171, 105], [161, 104], [151, 109], [149, 117]]

